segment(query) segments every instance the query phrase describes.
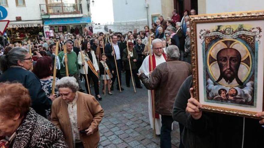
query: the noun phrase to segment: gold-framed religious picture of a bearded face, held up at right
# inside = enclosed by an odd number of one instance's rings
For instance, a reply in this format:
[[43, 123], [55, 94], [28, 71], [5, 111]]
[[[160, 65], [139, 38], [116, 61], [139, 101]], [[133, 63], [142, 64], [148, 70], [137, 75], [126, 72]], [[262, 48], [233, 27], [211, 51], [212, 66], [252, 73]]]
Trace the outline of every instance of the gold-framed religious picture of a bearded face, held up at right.
[[190, 16], [194, 97], [202, 110], [263, 111], [264, 11]]

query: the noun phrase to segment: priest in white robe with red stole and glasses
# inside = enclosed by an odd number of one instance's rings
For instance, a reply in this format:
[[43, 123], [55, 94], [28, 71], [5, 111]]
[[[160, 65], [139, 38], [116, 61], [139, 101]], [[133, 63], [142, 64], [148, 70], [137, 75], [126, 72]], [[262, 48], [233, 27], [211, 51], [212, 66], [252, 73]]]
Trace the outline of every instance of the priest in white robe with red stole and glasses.
[[[161, 39], [154, 39], [152, 41], [152, 63], [153, 63], [153, 70], [155, 69], [156, 66], [159, 64], [166, 62], [166, 56], [163, 53], [163, 46], [162, 46], [162, 41]], [[150, 57], [147, 56], [141, 67], [139, 68], [139, 74], [141, 72], [145, 73], [146, 76], [149, 77], [149, 71], [150, 71]], [[149, 121], [150, 121], [150, 126], [153, 129], [153, 114], [152, 114], [152, 99], [151, 99], [151, 90], [148, 90], [149, 93]], [[156, 128], [156, 135], [161, 134], [161, 115], [154, 115], [155, 117], [155, 128]]]

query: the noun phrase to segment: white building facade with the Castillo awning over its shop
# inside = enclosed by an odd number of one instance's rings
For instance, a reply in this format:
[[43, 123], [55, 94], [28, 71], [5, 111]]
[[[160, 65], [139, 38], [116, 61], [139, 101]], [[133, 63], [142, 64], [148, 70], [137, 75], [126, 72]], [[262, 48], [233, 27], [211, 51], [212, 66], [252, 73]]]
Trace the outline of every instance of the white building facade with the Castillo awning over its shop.
[[35, 40], [43, 34], [43, 22], [40, 15], [39, 4], [45, 0], [1, 0], [0, 4], [7, 9], [7, 18], [10, 20], [7, 26], [7, 36], [10, 42], [21, 42], [22, 40]]

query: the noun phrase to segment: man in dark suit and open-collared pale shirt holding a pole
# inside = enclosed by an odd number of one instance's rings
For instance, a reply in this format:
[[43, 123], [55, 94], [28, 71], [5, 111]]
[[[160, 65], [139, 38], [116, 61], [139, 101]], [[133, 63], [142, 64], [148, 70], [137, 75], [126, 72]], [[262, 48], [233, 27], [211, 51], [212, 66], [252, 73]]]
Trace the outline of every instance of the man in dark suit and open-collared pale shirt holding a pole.
[[[113, 78], [112, 78], [112, 86], [111, 86], [111, 90], [113, 90], [113, 85], [114, 82], [116, 80], [116, 75], [117, 72], [119, 74], [119, 81], [120, 81], [120, 86], [122, 85], [121, 83], [121, 71], [122, 71], [122, 46], [119, 42], [117, 42], [117, 35], [113, 34], [111, 36], [112, 42], [113, 42], [113, 48], [114, 51], [112, 50], [112, 45], [111, 44], [107, 44], [105, 46], [105, 54], [108, 57], [108, 60], [110, 61], [111, 67], [113, 67], [114, 70], [114, 74], [113, 74]], [[114, 59], [114, 55], [116, 56], [116, 59]], [[116, 65], [115, 65], [115, 60], [116, 60], [116, 64], [117, 64], [117, 71], [116, 71]], [[117, 80], [117, 89], [119, 90], [119, 84], [118, 84], [118, 80]], [[124, 90], [122, 87], [120, 88], [121, 90]]]

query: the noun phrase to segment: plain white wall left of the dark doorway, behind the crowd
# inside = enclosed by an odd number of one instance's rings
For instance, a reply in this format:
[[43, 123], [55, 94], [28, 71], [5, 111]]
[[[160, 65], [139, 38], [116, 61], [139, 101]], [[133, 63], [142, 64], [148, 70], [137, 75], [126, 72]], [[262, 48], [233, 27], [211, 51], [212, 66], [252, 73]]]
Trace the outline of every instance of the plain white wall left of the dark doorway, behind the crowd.
[[162, 14], [161, 0], [113, 0], [113, 14], [114, 31], [122, 33], [134, 29], [140, 31], [144, 30], [146, 25], [151, 28], [151, 15]]

